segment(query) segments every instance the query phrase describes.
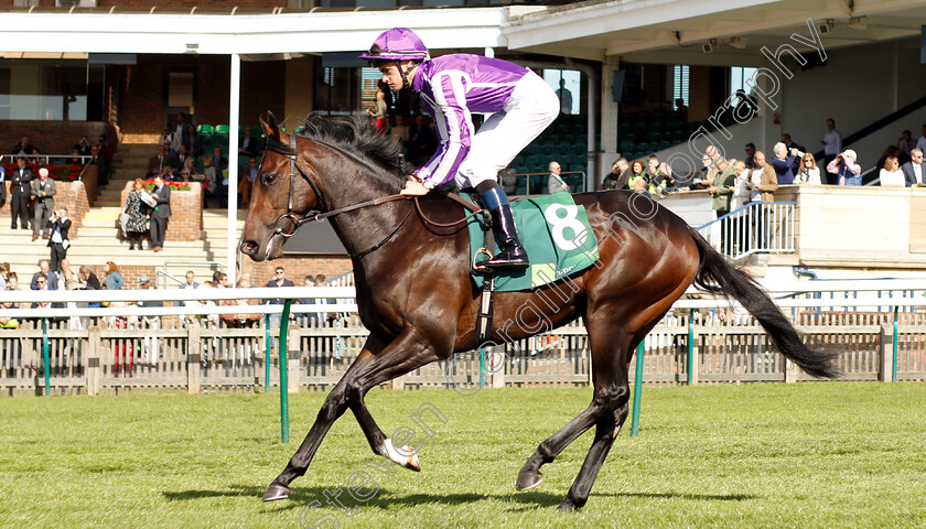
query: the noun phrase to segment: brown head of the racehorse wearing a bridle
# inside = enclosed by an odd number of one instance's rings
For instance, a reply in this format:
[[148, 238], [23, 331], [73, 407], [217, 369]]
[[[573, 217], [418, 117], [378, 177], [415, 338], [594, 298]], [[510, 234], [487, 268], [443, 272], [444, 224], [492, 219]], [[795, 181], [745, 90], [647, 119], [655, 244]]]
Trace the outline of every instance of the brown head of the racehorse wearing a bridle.
[[287, 134], [273, 114], [260, 119], [267, 149], [260, 162], [250, 199], [241, 252], [255, 261], [283, 255], [283, 244], [299, 228], [299, 220], [319, 207], [321, 192], [312, 180], [314, 170], [298, 161], [295, 134]]

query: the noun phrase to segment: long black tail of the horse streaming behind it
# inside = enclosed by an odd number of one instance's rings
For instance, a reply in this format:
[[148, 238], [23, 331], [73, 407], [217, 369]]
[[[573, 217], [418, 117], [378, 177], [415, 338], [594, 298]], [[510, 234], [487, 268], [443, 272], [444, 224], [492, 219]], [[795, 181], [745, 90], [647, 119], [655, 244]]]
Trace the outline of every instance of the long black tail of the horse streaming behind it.
[[815, 352], [804, 345], [800, 334], [758, 283], [746, 272], [730, 264], [701, 234], [690, 227], [689, 230], [701, 255], [701, 263], [694, 277], [696, 285], [713, 294], [739, 301], [758, 320], [782, 354], [808, 374], [821, 378], [839, 376], [839, 369], [833, 365], [836, 353]]

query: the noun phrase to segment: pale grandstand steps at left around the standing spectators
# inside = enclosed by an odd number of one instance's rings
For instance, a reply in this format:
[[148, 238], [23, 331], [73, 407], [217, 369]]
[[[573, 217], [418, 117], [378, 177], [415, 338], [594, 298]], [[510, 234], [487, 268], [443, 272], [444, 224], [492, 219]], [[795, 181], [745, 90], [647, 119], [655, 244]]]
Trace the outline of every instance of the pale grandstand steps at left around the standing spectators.
[[[157, 270], [165, 269], [168, 273], [181, 280], [187, 270], [193, 270], [196, 280], [203, 282], [211, 279], [217, 268], [209, 261], [219, 261], [222, 269], [225, 269], [228, 253], [228, 213], [225, 209], [203, 212], [203, 234], [198, 239], [168, 241], [164, 249], [157, 253], [148, 249], [147, 242], [146, 249], [139, 251], [129, 250], [128, 240], [121, 240], [118, 227], [121, 192], [129, 181], [144, 177], [148, 159], [154, 150], [153, 144], [120, 145], [119, 153], [112, 160], [114, 177], [101, 190], [94, 207], [87, 212], [80, 229], [76, 234], [72, 233], [72, 246], [67, 250], [72, 270], [76, 271], [86, 264], [98, 271], [106, 261], [112, 261], [123, 271], [123, 276], [127, 276], [126, 288], [134, 288], [137, 282], [130, 281], [130, 277], [134, 279], [142, 273], [152, 276]], [[246, 216], [247, 212], [238, 212], [236, 234], [244, 229]], [[10, 269], [20, 278], [20, 288], [28, 289], [32, 273], [39, 269], [39, 260], [50, 257], [47, 241], [39, 239], [33, 242], [32, 230], [12, 230], [9, 217], [4, 217], [3, 220], [6, 222], [0, 223], [0, 261], [9, 262]], [[125, 273], [127, 270], [131, 272]], [[158, 277], [157, 282], [159, 288], [173, 288], [176, 284], [162, 277]]]

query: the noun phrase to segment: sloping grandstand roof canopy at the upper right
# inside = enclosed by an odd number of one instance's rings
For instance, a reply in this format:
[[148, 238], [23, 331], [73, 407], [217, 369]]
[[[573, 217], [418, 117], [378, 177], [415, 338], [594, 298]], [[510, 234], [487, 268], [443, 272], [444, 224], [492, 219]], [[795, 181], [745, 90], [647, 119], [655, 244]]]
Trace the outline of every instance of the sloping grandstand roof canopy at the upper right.
[[[808, 19], [818, 26], [830, 21], [821, 35], [827, 48], [919, 35], [926, 24], [922, 0], [585, 1], [514, 14], [503, 30], [510, 48], [674, 64], [730, 64], [733, 57], [758, 64], [762, 46], [775, 50], [792, 33], [806, 35]], [[704, 53], [702, 44], [712, 39], [713, 52]]]

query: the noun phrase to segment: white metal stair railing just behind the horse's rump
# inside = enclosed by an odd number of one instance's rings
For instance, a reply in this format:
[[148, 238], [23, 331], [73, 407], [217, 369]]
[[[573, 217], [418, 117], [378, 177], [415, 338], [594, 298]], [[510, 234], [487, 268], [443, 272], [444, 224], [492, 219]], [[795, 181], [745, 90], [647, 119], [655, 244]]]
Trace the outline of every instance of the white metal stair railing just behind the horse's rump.
[[794, 202], [752, 202], [699, 226], [711, 246], [731, 259], [795, 251]]

